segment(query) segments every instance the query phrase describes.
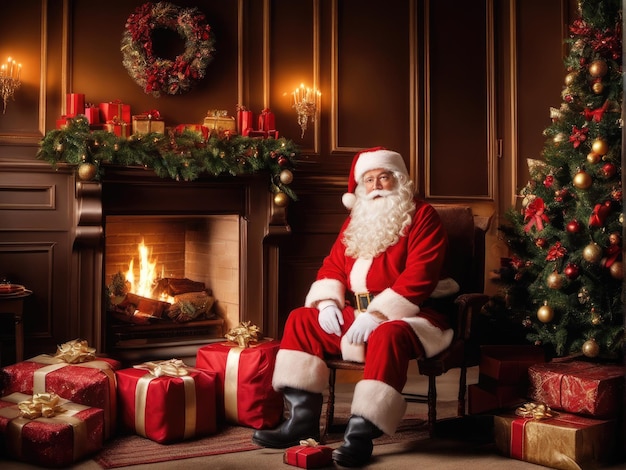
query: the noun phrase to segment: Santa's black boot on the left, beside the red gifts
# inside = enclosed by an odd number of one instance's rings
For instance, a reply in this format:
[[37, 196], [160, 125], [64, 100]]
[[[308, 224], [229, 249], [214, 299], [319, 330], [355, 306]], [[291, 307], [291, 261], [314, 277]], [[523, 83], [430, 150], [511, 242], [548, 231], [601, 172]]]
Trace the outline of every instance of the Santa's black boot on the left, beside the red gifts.
[[302, 439], [320, 440], [322, 394], [294, 388], [283, 389], [289, 417], [276, 429], [259, 429], [252, 442], [263, 447], [285, 449], [297, 446]]

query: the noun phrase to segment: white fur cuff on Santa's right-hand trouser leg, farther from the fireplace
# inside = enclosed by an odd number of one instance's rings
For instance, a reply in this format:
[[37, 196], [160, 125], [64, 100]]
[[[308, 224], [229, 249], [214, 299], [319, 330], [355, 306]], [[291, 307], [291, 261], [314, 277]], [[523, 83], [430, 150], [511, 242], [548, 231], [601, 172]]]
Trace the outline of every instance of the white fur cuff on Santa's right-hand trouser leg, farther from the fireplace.
[[392, 435], [406, 413], [406, 400], [385, 382], [365, 379], [354, 387], [350, 412], [371, 421], [385, 434]]

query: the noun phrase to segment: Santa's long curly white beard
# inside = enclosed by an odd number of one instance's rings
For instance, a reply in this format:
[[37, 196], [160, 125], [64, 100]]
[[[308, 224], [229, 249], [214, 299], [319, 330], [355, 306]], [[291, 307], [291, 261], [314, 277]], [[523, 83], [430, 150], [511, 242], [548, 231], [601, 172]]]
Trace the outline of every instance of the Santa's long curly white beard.
[[[372, 191], [365, 195], [357, 186], [351, 220], [343, 234], [346, 254], [354, 258], [374, 258], [395, 245], [411, 223], [415, 210], [410, 191]], [[380, 195], [380, 197], [373, 197]]]

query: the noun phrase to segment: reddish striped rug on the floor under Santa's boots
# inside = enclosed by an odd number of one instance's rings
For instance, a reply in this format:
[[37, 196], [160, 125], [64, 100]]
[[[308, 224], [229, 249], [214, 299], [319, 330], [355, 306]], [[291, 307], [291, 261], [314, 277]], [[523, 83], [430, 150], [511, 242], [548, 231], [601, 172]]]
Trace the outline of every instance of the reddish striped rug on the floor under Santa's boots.
[[[337, 414], [335, 422], [347, 422], [348, 416]], [[253, 429], [241, 426], [228, 426], [217, 434], [175, 444], [158, 444], [137, 435], [115, 438], [93, 457], [102, 468], [128, 467], [132, 465], [166, 462], [171, 460], [205, 457], [209, 455], [246, 452], [259, 449], [252, 443]], [[328, 434], [326, 444], [342, 440], [343, 433], [335, 431]], [[393, 436], [382, 436], [374, 441], [375, 445], [428, 438], [425, 421], [418, 416], [407, 415]]]

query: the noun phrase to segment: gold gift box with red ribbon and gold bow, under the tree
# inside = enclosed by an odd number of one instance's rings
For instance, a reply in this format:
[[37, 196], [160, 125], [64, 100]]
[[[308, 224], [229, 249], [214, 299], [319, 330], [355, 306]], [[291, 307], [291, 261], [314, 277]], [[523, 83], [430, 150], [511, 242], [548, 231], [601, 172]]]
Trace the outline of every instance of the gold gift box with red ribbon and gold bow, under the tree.
[[505, 456], [550, 468], [586, 470], [615, 457], [616, 422], [560, 413], [554, 418], [495, 416], [494, 438]]

